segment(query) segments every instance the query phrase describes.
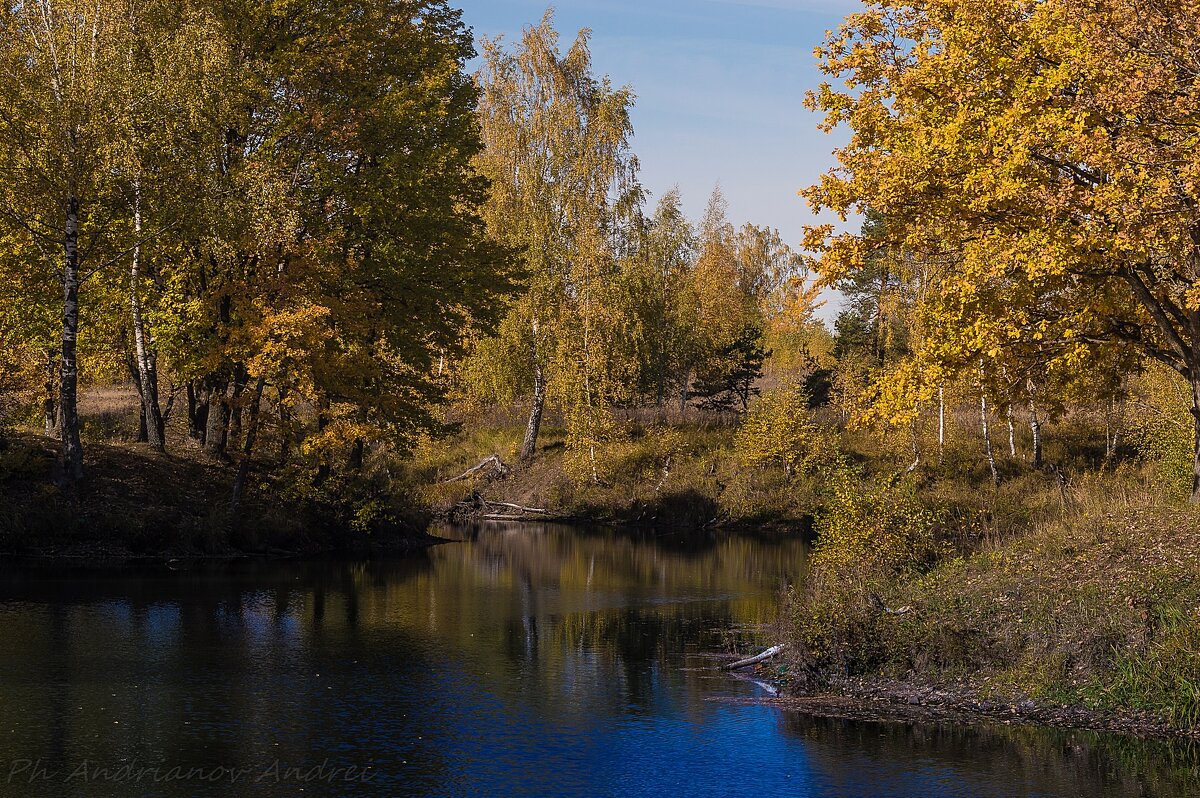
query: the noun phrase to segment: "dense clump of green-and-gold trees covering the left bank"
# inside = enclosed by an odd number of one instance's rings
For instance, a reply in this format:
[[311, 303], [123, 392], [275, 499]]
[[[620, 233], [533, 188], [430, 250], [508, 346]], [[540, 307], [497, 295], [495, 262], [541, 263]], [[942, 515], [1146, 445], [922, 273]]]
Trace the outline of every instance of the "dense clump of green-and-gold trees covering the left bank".
[[460, 12], [38, 0], [0, 34], [0, 332], [61, 372], [68, 478], [80, 362], [132, 378], [157, 448], [160, 373], [215, 457], [250, 457], [268, 394], [282, 452], [325, 468], [438, 426], [433, 362], [491, 329], [514, 266], [479, 212]]

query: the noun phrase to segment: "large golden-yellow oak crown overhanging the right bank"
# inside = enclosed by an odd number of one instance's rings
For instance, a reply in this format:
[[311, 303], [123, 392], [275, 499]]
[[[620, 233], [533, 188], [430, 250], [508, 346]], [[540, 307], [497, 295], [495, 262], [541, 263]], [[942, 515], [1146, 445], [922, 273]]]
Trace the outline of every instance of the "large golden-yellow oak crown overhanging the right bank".
[[[929, 257], [931, 372], [1020, 353], [1094, 367], [1122, 347], [1192, 386], [1200, 502], [1200, 146], [1192, 8], [1174, 0], [872, 4], [818, 52], [847, 125], [817, 208], [871, 208]], [[862, 236], [814, 229], [827, 278]]]

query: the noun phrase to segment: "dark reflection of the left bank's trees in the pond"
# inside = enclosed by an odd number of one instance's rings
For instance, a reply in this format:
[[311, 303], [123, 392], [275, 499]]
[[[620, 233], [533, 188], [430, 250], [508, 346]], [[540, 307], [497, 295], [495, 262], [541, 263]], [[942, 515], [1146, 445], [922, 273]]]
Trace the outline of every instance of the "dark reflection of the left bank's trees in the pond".
[[[354, 640], [364, 576], [349, 564], [239, 563], [2, 577], [0, 601], [22, 599], [0, 604], [0, 706], [12, 726], [4, 755], [67, 772], [134, 757], [145, 767], [262, 768], [370, 745], [372, 719], [340, 700], [368, 689], [349, 684], [344, 667], [349, 647], [371, 653]], [[425, 648], [398, 630], [389, 642], [407, 667], [428, 667]], [[437, 733], [439, 722], [436, 713], [414, 718], [400, 739]], [[343, 733], [332, 746], [329, 736]], [[416, 761], [431, 782], [446, 768], [432, 749]], [[62, 790], [42, 787], [26, 794]], [[193, 787], [175, 785], [178, 794]]]

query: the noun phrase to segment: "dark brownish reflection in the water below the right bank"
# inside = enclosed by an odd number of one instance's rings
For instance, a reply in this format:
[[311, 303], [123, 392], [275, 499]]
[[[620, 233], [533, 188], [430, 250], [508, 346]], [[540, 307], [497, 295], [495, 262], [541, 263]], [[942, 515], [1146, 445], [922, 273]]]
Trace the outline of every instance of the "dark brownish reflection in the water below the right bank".
[[846, 794], [863, 788], [864, 773], [874, 770], [869, 786], [880, 790], [918, 767], [940, 769], [964, 794], [980, 797], [1165, 798], [1193, 796], [1200, 784], [1195, 744], [1033, 726], [780, 718], [784, 732], [804, 742], [814, 772]]

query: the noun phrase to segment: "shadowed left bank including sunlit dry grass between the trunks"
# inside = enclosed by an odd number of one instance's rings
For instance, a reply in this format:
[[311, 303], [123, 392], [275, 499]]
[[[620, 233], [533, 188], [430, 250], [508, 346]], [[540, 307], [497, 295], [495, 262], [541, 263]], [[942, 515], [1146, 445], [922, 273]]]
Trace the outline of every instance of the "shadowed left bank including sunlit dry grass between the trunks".
[[378, 474], [204, 457], [175, 419], [166, 452], [139, 444], [137, 400], [92, 389], [80, 403], [86, 479], [67, 487], [59, 442], [29, 428], [0, 445], [0, 554], [52, 558], [287, 556], [424, 545], [430, 515]]

